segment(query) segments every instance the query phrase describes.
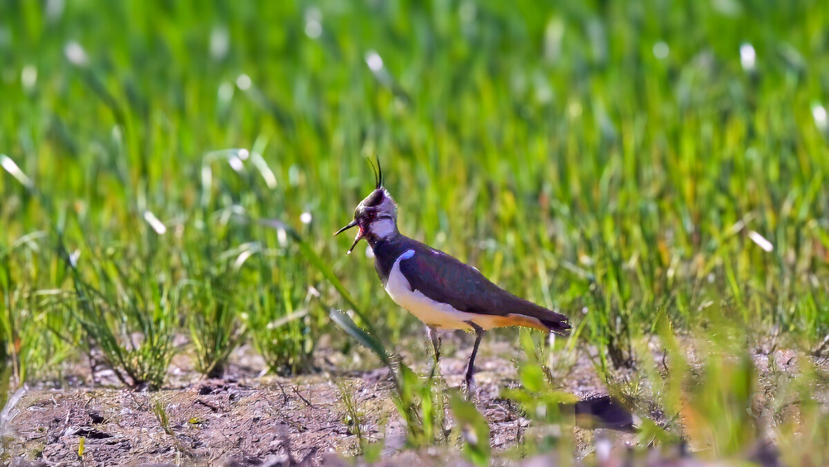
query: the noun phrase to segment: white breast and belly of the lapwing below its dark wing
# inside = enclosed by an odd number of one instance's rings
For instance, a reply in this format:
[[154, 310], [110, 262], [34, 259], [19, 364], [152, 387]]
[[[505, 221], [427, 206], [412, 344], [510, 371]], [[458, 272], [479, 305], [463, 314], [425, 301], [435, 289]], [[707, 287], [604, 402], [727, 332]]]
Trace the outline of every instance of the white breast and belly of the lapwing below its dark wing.
[[442, 329], [471, 329], [467, 321], [478, 324], [481, 328], [496, 327], [495, 317], [486, 314], [467, 313], [459, 311], [450, 304], [442, 304], [429, 299], [420, 290], [412, 290], [409, 280], [400, 272], [400, 261], [414, 256], [414, 250], [405, 251], [391, 266], [389, 280], [385, 283], [385, 291], [396, 304], [408, 310], [420, 321], [428, 326]]

